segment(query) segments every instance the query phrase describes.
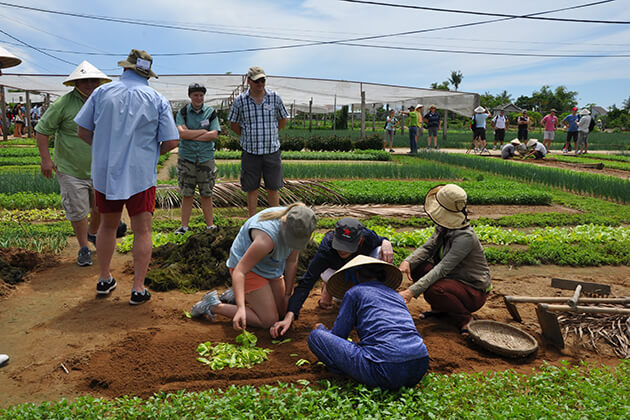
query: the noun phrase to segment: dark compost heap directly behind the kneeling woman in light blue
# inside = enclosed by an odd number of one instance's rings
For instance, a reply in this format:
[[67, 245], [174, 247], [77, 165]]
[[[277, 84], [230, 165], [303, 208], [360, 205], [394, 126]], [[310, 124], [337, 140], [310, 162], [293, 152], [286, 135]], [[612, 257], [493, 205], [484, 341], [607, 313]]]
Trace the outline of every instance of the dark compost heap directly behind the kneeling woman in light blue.
[[[196, 233], [181, 245], [154, 249], [146, 285], [157, 291], [183, 292], [229, 287], [232, 280], [225, 262], [238, 231], [238, 227], [219, 227]], [[316, 252], [317, 244], [311, 241], [300, 253], [298, 276], [306, 271]]]

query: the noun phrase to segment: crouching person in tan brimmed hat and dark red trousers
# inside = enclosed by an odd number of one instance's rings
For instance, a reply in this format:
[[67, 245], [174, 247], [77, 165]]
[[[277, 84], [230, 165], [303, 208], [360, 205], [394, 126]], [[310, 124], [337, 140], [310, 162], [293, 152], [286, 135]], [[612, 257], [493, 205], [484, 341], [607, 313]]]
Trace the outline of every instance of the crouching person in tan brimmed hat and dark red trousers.
[[432, 188], [424, 209], [437, 225], [433, 235], [401, 264], [400, 271], [415, 283], [400, 292], [405, 302], [424, 294], [431, 311], [420, 318], [448, 316], [462, 335], [468, 334], [472, 313], [492, 289], [483, 246], [470, 227], [467, 195], [454, 184]]

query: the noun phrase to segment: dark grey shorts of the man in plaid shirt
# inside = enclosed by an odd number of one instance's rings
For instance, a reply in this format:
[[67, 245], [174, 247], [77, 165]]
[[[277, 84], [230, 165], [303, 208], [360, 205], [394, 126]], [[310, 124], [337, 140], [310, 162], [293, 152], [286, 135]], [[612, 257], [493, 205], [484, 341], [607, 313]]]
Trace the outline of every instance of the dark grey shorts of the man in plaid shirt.
[[261, 176], [265, 180], [266, 190], [277, 191], [282, 188], [284, 182], [280, 150], [268, 155], [252, 155], [244, 150], [241, 152], [241, 190], [257, 190]]

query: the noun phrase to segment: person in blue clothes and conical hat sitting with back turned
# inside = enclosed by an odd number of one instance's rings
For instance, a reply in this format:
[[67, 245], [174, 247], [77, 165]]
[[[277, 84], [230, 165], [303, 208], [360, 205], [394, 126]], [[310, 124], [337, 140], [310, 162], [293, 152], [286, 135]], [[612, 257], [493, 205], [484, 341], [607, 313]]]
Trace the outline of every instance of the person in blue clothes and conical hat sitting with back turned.
[[[359, 255], [328, 281], [343, 299], [331, 330], [317, 323], [308, 337], [311, 351], [331, 372], [371, 387], [413, 387], [429, 368], [429, 353], [396, 293], [402, 274], [395, 266]], [[348, 340], [355, 329], [360, 342]]]

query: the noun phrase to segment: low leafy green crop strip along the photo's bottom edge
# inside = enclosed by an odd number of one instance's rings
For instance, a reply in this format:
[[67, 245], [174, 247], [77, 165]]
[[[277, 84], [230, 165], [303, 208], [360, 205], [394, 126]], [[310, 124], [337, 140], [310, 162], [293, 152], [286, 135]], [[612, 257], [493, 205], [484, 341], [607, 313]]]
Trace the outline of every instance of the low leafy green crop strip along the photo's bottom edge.
[[[430, 350], [429, 350], [430, 351]], [[543, 365], [531, 375], [508, 370], [428, 374], [415, 388], [369, 389], [352, 381], [230, 386], [160, 393], [147, 400], [79, 397], [22, 404], [0, 419], [626, 419], [630, 361], [616, 368]]]

